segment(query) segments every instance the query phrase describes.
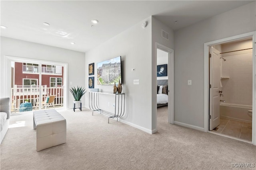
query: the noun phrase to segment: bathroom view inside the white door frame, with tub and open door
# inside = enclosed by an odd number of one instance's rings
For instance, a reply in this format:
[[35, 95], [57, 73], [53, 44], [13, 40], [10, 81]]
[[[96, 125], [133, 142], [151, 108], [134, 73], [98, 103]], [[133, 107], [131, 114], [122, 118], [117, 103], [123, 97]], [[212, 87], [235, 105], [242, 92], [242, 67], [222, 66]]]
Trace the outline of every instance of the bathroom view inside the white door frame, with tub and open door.
[[[209, 130], [251, 142], [252, 37], [212, 45], [209, 48], [210, 54], [212, 53], [209, 57], [209, 84], [212, 85], [209, 88], [209, 106], [210, 113], [213, 114], [209, 119]], [[218, 60], [218, 66], [212, 66], [214, 63], [211, 61], [214, 58]], [[214, 75], [214, 80], [211, 75]]]

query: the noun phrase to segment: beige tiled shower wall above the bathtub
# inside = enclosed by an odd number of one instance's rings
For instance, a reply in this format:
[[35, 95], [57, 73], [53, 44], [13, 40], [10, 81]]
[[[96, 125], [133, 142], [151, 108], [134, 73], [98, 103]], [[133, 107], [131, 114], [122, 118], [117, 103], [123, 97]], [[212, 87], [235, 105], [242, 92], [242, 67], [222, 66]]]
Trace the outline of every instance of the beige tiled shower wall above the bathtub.
[[223, 100], [229, 104], [252, 105], [252, 51], [223, 57], [226, 61], [222, 61], [222, 76], [230, 77], [221, 80]]

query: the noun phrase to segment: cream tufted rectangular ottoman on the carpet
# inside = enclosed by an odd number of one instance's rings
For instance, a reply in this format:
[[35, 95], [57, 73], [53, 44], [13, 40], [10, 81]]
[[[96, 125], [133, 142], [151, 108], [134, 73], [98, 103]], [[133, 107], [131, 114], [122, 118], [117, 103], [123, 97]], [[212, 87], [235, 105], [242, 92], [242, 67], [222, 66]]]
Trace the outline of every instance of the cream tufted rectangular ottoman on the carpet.
[[66, 143], [66, 119], [55, 109], [34, 111], [36, 151]]

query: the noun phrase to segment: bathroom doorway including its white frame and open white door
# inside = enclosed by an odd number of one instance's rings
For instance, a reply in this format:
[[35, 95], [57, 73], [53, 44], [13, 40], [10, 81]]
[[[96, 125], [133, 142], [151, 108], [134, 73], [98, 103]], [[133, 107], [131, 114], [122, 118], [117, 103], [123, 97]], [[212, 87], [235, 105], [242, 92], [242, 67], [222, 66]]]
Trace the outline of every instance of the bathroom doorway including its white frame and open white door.
[[254, 38], [251, 32], [204, 44], [204, 130], [256, 145]]

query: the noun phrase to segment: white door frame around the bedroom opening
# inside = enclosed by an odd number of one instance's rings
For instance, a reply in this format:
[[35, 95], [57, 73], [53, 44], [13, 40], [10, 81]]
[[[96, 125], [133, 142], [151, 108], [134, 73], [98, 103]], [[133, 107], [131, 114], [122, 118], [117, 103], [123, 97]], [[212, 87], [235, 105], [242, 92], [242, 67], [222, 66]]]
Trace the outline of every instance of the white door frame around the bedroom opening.
[[[168, 90], [169, 90], [168, 92], [168, 123], [174, 124], [174, 50], [156, 42], [156, 45], [155, 45], [156, 58], [157, 58], [157, 49], [160, 49], [168, 53], [168, 69], [167, 69]], [[157, 86], [157, 80], [155, 84]], [[172, 95], [169, 95], [169, 94], [172, 94]], [[169, 102], [169, 101], [172, 101], [172, 102]], [[156, 117], [155, 123], [157, 125], [157, 117]]]

